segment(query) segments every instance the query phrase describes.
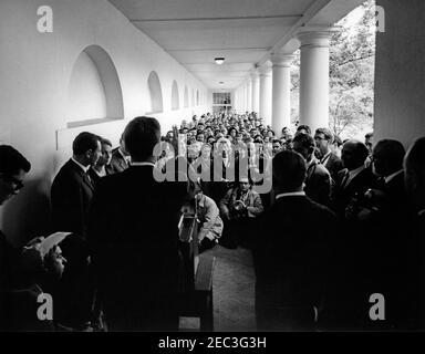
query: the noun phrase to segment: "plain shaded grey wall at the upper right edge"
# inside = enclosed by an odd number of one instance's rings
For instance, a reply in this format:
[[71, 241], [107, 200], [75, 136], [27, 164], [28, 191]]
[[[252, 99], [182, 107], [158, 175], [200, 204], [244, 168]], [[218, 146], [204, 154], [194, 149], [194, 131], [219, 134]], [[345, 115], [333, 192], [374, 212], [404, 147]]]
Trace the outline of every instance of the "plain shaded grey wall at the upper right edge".
[[385, 32], [376, 35], [375, 143], [408, 147], [425, 136], [425, 1], [377, 0]]

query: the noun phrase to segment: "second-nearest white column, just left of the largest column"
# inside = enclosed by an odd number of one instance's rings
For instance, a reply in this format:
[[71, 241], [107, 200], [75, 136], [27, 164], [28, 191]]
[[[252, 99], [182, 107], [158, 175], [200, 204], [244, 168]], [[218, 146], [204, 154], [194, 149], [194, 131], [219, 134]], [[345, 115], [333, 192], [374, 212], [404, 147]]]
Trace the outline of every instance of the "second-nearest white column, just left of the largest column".
[[292, 55], [276, 53], [270, 56], [272, 66], [271, 127], [280, 136], [291, 123], [291, 61]]

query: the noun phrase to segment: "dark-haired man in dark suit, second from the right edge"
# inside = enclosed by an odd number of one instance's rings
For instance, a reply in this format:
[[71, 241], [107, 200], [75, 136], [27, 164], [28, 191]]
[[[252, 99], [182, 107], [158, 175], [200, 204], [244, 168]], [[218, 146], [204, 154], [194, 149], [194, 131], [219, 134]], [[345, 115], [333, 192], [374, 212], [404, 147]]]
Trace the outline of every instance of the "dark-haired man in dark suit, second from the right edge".
[[362, 259], [359, 278], [365, 284], [364, 294], [380, 292], [387, 300], [385, 322], [365, 322], [376, 330], [406, 330], [412, 315], [406, 311], [412, 284], [412, 238], [406, 233], [411, 208], [404, 188], [404, 155], [397, 140], [383, 139], [374, 146], [372, 170], [381, 178], [380, 186], [366, 191], [356, 217], [362, 232], [356, 236], [360, 247], [355, 257]]

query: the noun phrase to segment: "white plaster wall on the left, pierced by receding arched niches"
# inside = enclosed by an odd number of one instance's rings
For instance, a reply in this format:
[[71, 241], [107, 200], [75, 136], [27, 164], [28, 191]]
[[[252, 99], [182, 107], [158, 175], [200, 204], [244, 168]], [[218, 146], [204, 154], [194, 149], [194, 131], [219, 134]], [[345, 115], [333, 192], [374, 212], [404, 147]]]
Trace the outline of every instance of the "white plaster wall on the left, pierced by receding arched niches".
[[[53, 33], [37, 30], [41, 6], [53, 10]], [[91, 44], [104, 49], [116, 67], [125, 119], [66, 129], [72, 69]], [[163, 88], [164, 112], [154, 114], [163, 132], [210, 111], [208, 104], [191, 102], [188, 108], [172, 111], [173, 80], [180, 107], [185, 85], [189, 92], [206, 93], [206, 87], [107, 1], [0, 1], [0, 143], [13, 145], [33, 166], [21, 195], [0, 209], [0, 228], [12, 242], [49, 231], [50, 185], [70, 157], [75, 134], [89, 131], [117, 144], [125, 124], [149, 110], [147, 77], [153, 70]]]

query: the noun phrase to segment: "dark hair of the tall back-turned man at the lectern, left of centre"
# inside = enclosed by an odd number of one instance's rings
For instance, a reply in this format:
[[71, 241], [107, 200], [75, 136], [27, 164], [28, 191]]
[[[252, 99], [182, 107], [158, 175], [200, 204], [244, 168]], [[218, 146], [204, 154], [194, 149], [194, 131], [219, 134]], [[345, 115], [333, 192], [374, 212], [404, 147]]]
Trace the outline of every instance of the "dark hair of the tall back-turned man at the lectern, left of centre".
[[135, 117], [124, 131], [125, 147], [132, 158], [151, 157], [160, 139], [159, 122], [153, 117]]

